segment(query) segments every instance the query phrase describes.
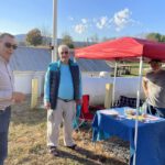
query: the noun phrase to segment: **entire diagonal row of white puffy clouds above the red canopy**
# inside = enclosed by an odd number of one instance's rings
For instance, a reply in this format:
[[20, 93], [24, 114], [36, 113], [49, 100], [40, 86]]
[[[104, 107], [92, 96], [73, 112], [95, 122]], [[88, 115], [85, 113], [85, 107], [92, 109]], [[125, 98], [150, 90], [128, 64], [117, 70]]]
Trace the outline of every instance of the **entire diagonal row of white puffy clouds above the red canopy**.
[[[108, 15], [102, 15], [100, 18], [81, 18], [78, 23], [73, 25], [76, 33], [85, 33], [87, 30], [97, 28], [99, 30], [113, 29], [116, 31], [121, 31], [129, 25], [140, 25], [141, 23], [131, 18], [132, 12], [125, 8], [113, 14], [112, 18]], [[76, 20], [74, 20], [76, 21]]]

